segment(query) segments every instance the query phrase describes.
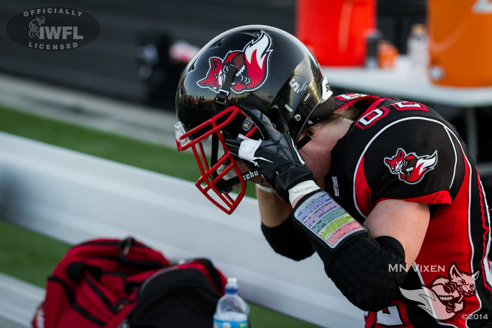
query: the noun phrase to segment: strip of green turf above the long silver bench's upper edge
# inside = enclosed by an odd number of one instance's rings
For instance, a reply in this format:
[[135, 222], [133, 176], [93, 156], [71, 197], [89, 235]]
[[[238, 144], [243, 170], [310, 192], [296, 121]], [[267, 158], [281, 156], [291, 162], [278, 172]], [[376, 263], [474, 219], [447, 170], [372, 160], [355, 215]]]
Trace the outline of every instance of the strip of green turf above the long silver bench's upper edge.
[[[0, 131], [196, 182], [195, 157], [157, 144], [47, 119], [0, 106]], [[246, 196], [256, 197], [249, 183]]]

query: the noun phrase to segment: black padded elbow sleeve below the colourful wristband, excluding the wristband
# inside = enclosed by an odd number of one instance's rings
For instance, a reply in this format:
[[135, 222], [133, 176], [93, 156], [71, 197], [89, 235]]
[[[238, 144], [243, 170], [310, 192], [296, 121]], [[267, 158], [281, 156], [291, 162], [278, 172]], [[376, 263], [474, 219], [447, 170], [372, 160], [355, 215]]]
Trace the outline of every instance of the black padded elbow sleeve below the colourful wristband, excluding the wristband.
[[[349, 240], [335, 257], [321, 242], [310, 239], [328, 277], [352, 304], [364, 311], [377, 312], [397, 297], [405, 278], [400, 264], [406, 267], [404, 250], [397, 239], [384, 236], [382, 241], [391, 241], [381, 247], [372, 237], [359, 236]], [[390, 270], [390, 265], [397, 265], [398, 269]]]

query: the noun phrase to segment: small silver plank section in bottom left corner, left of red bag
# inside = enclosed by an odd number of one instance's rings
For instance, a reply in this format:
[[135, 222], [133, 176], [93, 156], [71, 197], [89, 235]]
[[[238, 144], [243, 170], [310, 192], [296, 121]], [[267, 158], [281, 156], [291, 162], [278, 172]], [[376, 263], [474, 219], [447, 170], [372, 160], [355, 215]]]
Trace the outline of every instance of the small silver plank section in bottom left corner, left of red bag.
[[31, 327], [44, 289], [0, 273], [0, 327]]

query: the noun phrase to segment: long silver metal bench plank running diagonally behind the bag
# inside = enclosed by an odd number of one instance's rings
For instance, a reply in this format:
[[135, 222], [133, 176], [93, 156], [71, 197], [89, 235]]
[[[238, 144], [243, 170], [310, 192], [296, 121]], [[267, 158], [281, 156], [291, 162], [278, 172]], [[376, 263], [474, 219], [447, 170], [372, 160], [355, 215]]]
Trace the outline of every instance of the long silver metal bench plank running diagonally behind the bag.
[[316, 254], [295, 262], [270, 249], [254, 199], [229, 216], [192, 182], [0, 133], [0, 193], [6, 187], [14, 224], [71, 244], [131, 235], [172, 261], [209, 257], [247, 300], [321, 327], [364, 323]]

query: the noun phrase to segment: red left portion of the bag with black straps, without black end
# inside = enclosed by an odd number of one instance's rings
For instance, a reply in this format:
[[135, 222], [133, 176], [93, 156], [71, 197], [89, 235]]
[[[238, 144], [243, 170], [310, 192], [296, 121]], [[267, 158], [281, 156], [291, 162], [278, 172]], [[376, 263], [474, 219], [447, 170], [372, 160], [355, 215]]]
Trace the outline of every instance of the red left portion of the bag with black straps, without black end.
[[127, 239], [94, 239], [71, 248], [48, 278], [34, 328], [118, 327], [142, 283], [169, 261]]

